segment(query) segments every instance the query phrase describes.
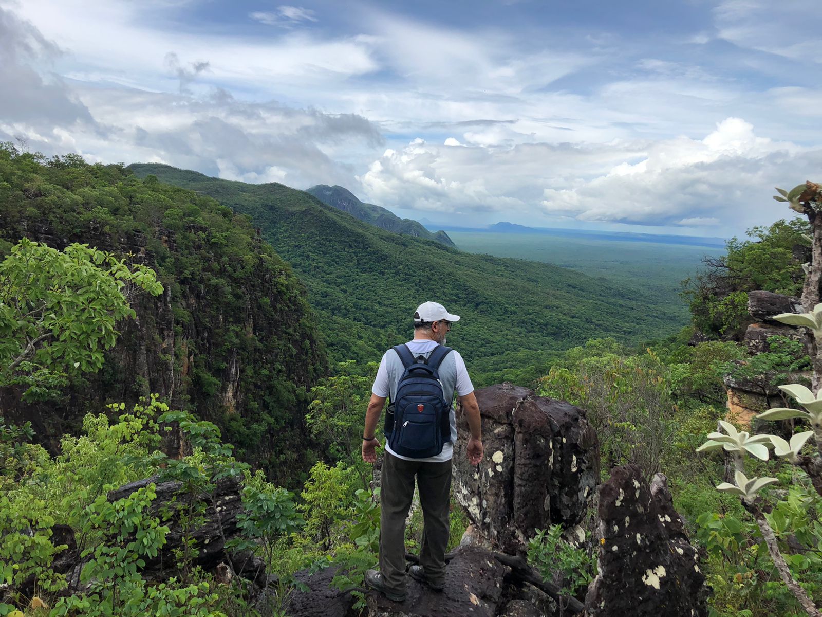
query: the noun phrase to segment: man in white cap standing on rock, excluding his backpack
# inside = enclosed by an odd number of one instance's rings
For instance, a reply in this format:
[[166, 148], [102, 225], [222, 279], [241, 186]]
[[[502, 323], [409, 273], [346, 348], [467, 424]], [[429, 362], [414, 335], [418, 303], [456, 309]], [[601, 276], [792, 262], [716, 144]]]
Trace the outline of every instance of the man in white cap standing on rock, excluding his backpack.
[[[450, 330], [451, 324], [457, 321], [459, 315], [448, 313], [442, 304], [420, 304], [413, 316], [413, 341], [405, 345], [410, 352], [407, 357], [431, 357], [437, 347], [445, 344], [446, 333]], [[401, 351], [404, 353], [404, 350]], [[437, 356], [441, 353], [438, 352]], [[365, 462], [376, 462], [375, 448], [379, 444], [374, 437], [376, 424], [380, 420], [386, 397], [390, 396], [392, 402], [397, 400], [397, 387], [405, 368], [406, 364], [394, 348], [382, 356], [365, 418]], [[405, 600], [405, 519], [411, 508], [415, 477], [420, 505], [423, 508], [423, 545], [419, 555], [420, 565], [411, 566], [409, 574], [420, 582], [426, 582], [428, 587], [436, 591], [441, 591], [445, 587], [451, 455], [457, 438], [455, 411], [451, 404], [455, 392], [465, 412], [471, 433], [467, 451], [469, 462], [478, 465], [483, 459], [479, 406], [462, 357], [458, 352], [451, 350], [441, 359], [436, 371], [444, 400], [449, 405], [446, 413], [450, 421], [450, 435], [443, 439], [446, 443], [443, 443], [441, 452], [432, 457], [413, 458], [399, 455], [386, 443], [385, 459], [382, 462], [380, 572], [368, 570], [365, 578], [369, 587], [381, 591], [389, 600], [398, 602]], [[423, 411], [423, 405], [418, 407]]]

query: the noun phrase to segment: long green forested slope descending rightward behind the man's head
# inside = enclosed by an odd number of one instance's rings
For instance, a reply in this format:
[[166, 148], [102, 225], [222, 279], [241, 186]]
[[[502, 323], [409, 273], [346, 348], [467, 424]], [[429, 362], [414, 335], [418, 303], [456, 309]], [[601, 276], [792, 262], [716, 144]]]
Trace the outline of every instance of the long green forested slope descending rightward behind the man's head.
[[306, 285], [333, 360], [379, 359], [410, 336], [413, 308], [427, 299], [463, 316], [449, 341], [464, 351], [478, 383], [537, 378], [548, 358], [590, 337], [641, 341], [684, 325], [643, 290], [392, 234], [282, 184], [231, 182], [168, 165], [129, 169], [251, 216]]

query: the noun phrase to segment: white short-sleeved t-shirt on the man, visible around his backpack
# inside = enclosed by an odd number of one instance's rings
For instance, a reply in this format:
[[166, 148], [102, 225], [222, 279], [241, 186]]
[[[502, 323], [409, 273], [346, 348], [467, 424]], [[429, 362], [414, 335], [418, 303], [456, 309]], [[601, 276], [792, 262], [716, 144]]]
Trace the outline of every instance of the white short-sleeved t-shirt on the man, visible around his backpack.
[[[406, 343], [409, 347], [409, 350], [413, 355], [427, 355], [431, 352], [436, 346], [436, 341], [431, 341], [429, 339], [419, 339], [415, 341], [409, 341]], [[395, 390], [396, 383], [391, 383], [392, 376], [395, 380], [399, 380], [399, 376], [402, 374], [402, 362], [399, 360], [399, 356], [396, 355], [394, 350], [388, 350], [382, 356], [382, 360], [380, 362], [380, 368], [376, 372], [376, 378], [374, 379], [374, 385], [372, 387], [372, 392], [376, 394], [378, 397], [390, 397], [392, 390]], [[471, 378], [469, 378], [468, 370], [465, 368], [465, 361], [462, 359], [462, 356], [459, 355], [458, 351], [452, 350], [450, 354], [446, 355], [445, 360], [442, 360], [442, 364], [440, 365], [440, 380], [443, 384], [443, 387], [446, 389], [445, 395], [446, 398], [453, 397], [454, 393], [456, 393], [459, 397], [464, 397], [466, 394], [470, 394], [473, 392], [473, 384], [471, 383]], [[454, 443], [456, 442], [456, 415], [454, 406], [451, 406], [450, 409], [450, 429], [451, 429], [451, 441], [450, 443], [446, 443], [442, 447], [442, 452], [436, 455], [436, 457], [427, 457], [427, 458], [409, 458], [409, 457], [402, 457], [399, 456], [396, 452], [391, 450], [391, 448], [386, 444], [386, 451], [390, 452], [393, 456], [397, 458], [401, 458], [405, 461], [417, 461], [417, 462], [446, 462], [449, 461], [454, 450]]]

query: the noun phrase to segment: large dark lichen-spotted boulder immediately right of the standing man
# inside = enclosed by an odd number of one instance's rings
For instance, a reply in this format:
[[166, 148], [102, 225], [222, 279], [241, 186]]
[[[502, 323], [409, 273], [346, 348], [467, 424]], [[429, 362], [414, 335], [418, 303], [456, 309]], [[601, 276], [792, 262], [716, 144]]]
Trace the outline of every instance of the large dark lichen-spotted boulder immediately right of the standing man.
[[503, 552], [524, 550], [534, 529], [580, 522], [598, 474], [597, 438], [584, 411], [501, 384], [477, 390], [485, 458], [465, 457], [468, 424], [459, 415], [454, 494], [471, 522]]

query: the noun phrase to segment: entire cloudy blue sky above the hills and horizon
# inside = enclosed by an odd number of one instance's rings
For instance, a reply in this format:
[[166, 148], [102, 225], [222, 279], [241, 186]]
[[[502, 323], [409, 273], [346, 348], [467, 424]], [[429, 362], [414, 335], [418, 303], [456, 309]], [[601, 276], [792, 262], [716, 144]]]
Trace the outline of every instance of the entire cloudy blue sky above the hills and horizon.
[[822, 179], [818, 0], [0, 0], [0, 141], [730, 237]]

